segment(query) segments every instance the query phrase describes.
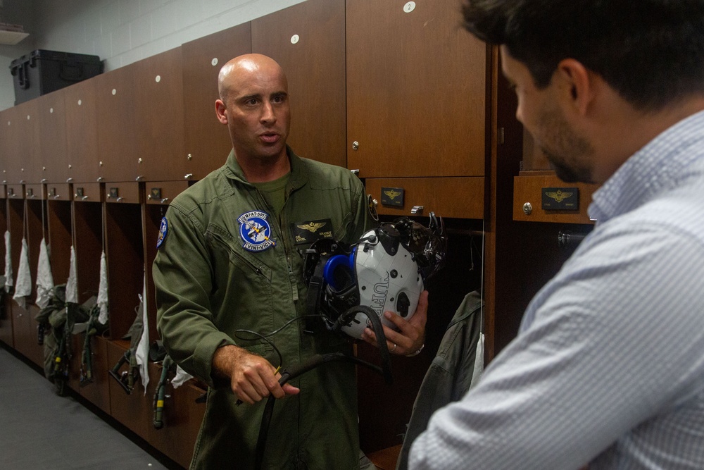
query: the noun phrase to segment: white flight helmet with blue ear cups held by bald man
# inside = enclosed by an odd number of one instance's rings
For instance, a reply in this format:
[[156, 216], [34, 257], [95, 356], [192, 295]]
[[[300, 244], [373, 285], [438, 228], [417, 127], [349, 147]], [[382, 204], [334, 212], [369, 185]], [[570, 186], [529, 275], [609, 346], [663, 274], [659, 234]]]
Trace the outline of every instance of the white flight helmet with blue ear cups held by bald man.
[[375, 329], [372, 314], [395, 328], [384, 311], [413, 316], [423, 281], [440, 268], [445, 249], [442, 220], [433, 213], [428, 228], [403, 217], [368, 231], [352, 247], [318, 240], [306, 250], [303, 268], [308, 314], [322, 314], [328, 329], [356, 339], [367, 326]]

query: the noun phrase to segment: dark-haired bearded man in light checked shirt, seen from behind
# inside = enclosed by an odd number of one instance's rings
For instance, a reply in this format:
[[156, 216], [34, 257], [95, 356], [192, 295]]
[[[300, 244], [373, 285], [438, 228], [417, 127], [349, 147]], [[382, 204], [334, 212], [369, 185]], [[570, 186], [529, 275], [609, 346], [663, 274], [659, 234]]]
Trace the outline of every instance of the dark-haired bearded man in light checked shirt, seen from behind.
[[465, 0], [594, 230], [411, 469], [704, 469], [704, 1]]

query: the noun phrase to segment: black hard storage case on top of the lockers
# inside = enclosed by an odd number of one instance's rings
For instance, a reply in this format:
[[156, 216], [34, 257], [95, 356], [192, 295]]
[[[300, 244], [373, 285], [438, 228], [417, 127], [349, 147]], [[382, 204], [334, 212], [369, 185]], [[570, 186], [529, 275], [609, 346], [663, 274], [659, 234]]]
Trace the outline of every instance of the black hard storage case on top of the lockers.
[[103, 72], [98, 56], [37, 49], [10, 65], [15, 82], [15, 104], [54, 92]]

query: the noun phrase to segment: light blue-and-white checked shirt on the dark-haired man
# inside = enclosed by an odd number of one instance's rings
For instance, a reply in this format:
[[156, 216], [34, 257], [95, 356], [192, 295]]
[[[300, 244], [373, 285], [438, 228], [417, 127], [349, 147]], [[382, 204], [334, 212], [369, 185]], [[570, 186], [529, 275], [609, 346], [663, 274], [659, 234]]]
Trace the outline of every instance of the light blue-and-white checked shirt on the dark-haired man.
[[704, 469], [704, 111], [631, 156], [589, 214], [411, 469]]

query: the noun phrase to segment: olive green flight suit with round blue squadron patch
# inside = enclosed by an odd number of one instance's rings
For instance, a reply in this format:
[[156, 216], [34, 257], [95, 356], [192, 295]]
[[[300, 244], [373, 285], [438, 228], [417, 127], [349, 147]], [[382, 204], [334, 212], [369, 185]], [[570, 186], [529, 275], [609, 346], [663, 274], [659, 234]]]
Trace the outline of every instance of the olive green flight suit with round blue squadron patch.
[[[213, 377], [210, 366], [222, 345], [239, 345], [279, 365], [267, 342], [236, 330], [267, 334], [308, 313], [298, 249], [310, 240], [296, 245], [296, 226], [325, 222], [314, 236], [348, 243], [370, 228], [365, 190], [355, 175], [287, 151], [291, 175], [278, 220], [231, 152], [225, 166], [175, 197], [162, 222], [153, 266], [159, 334], [169, 356], [209, 386], [191, 469], [253, 466], [266, 400], [237, 406], [230, 383]], [[309, 335], [303, 326], [305, 319], [294, 321], [269, 338], [283, 367], [315, 353], [351, 354], [345, 338]], [[291, 383], [301, 393], [276, 400], [264, 468], [357, 469], [354, 366], [323, 364]]]

